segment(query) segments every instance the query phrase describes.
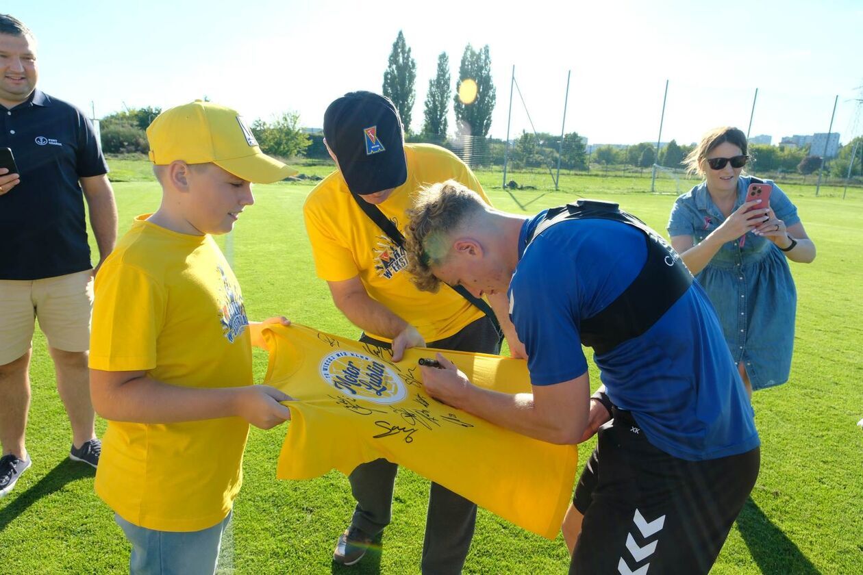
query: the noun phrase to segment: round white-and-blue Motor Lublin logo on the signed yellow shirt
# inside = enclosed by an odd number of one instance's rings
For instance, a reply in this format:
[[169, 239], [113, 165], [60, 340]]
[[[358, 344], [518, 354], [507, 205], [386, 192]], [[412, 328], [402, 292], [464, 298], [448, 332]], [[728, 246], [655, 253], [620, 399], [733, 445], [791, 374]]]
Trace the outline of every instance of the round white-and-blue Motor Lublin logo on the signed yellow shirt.
[[407, 397], [407, 386], [399, 375], [365, 353], [329, 353], [321, 360], [319, 372], [327, 384], [354, 399], [388, 404]]

